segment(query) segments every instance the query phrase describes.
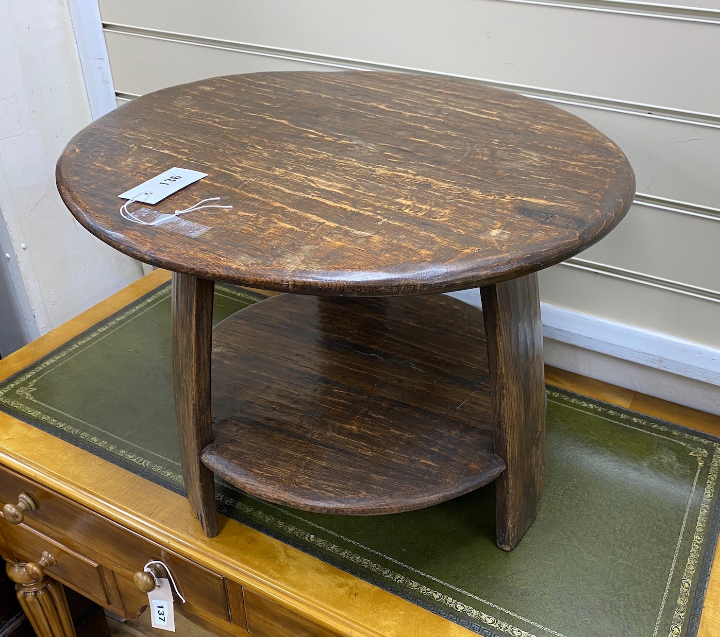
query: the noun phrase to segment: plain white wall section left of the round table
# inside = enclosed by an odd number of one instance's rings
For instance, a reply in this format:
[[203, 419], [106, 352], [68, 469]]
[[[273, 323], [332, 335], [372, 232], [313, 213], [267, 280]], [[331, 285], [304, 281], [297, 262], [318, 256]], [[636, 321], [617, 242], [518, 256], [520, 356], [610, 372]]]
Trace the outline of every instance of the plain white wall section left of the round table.
[[0, 0], [0, 61], [0, 354], [7, 354], [142, 270], [81, 228], [55, 188], [55, 161], [90, 122], [68, 6]]

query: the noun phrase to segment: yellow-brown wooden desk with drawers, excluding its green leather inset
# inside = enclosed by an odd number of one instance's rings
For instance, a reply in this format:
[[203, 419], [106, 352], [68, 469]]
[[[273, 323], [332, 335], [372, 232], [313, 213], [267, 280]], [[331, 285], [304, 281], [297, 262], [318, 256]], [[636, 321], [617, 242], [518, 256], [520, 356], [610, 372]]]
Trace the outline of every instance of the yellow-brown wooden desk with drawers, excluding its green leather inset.
[[[168, 279], [157, 271], [0, 361], [6, 378]], [[720, 435], [720, 418], [548, 370], [556, 386]], [[188, 599], [180, 612], [219, 635], [258, 637], [463, 637], [438, 615], [328, 566], [233, 520], [206, 538], [186, 499], [35, 427], [0, 414], [0, 502], [25, 492], [39, 505], [21, 525], [0, 520], [0, 553], [37, 561], [63, 582], [125, 618], [146, 597], [132, 581], [151, 558], [166, 561]], [[720, 626], [720, 567], [713, 570], [699, 637]], [[26, 608], [37, 603], [25, 600]], [[55, 612], [62, 615], [62, 607]], [[42, 613], [48, 615], [48, 612]], [[57, 618], [55, 624], [58, 623]], [[249, 632], [248, 632], [249, 631]], [[65, 637], [58, 628], [41, 637]], [[72, 634], [72, 633], [70, 633]]]

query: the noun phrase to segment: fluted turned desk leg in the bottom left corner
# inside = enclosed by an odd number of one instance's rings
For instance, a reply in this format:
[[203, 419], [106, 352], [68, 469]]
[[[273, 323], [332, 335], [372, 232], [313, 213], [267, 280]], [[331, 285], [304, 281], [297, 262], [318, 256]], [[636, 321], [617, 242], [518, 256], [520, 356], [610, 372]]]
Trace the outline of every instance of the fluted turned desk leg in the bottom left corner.
[[76, 637], [63, 585], [45, 575], [45, 567], [54, 563], [55, 558], [43, 551], [39, 561], [8, 562], [6, 570], [38, 637]]

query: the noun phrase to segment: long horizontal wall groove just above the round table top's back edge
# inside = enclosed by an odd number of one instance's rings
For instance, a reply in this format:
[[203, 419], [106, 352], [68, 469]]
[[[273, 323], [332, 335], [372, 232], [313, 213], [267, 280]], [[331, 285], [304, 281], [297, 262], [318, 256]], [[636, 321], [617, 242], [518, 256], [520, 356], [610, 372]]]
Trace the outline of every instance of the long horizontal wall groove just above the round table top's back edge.
[[364, 60], [356, 60], [354, 58], [341, 58], [333, 55], [323, 55], [321, 53], [307, 53], [305, 51], [254, 45], [249, 43], [235, 42], [233, 40], [221, 40], [215, 37], [188, 35], [171, 31], [149, 29], [145, 27], [135, 27], [128, 24], [116, 24], [114, 22], [104, 22], [103, 28], [105, 31], [111, 33], [122, 33], [135, 37], [147, 37], [153, 40], [164, 40], [166, 42], [175, 42], [206, 48], [232, 50], [237, 51], [238, 53], [245, 53], [247, 55], [261, 55], [269, 58], [278, 58], [295, 62], [306, 62], [311, 64], [318, 64], [320, 66], [330, 66], [332, 68], [367, 71], [403, 71], [405, 73], [469, 79], [480, 82], [480, 84], [485, 84], [486, 86], [495, 86], [495, 88], [498, 89], [515, 91], [517, 93], [526, 95], [527, 97], [536, 97], [537, 99], [542, 99], [546, 102], [553, 102], [555, 104], [567, 104], [568, 106], [579, 106], [598, 110], [607, 110], [624, 113], [626, 115], [638, 115], [640, 117], [651, 117], [652, 119], [658, 120], [668, 120], [672, 122], [693, 124], [706, 128], [720, 128], [720, 115], [713, 115], [711, 113], [673, 109], [653, 104], [641, 104], [638, 102], [625, 102], [619, 99], [596, 97], [593, 95], [558, 91], [554, 89], [544, 89], [539, 86], [513, 84], [510, 82], [495, 81], [473, 76], [442, 73], [440, 71], [428, 71], [427, 69], [415, 68], [411, 66], [370, 62]]

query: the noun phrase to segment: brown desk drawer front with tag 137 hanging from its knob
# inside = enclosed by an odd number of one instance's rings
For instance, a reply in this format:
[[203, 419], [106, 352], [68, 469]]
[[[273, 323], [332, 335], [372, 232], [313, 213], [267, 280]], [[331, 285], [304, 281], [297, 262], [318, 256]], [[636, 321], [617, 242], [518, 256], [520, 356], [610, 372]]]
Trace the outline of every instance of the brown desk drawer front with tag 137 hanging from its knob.
[[[141, 571], [148, 561], [160, 560], [167, 564], [190, 607], [230, 620], [222, 576], [0, 466], [0, 504], [16, 504], [21, 493], [29, 495], [37, 509], [24, 512], [22, 524], [16, 527], [4, 520], [3, 530], [8, 528], [9, 535], [15, 538], [13, 541], [22, 545], [24, 538], [31, 535], [19, 535], [17, 530], [32, 527], [36, 533], [52, 538], [74, 554], [87, 556], [89, 562], [112, 569], [125, 616], [137, 617], [148, 605], [147, 595], [132, 582], [133, 574]], [[22, 553], [23, 558], [27, 554], [27, 551]], [[30, 555], [32, 560], [37, 558], [39, 554]], [[58, 579], [62, 577], [58, 575]], [[107, 605], [107, 602], [101, 603]]]

